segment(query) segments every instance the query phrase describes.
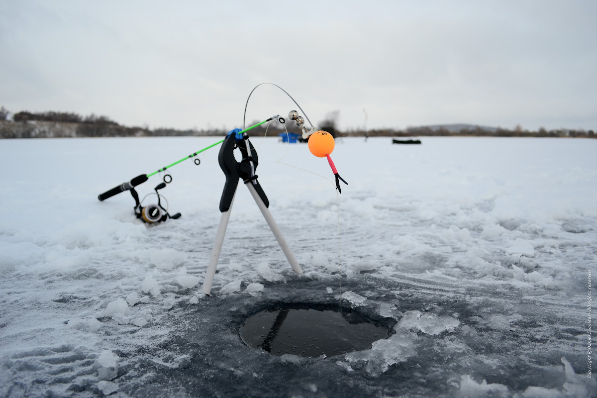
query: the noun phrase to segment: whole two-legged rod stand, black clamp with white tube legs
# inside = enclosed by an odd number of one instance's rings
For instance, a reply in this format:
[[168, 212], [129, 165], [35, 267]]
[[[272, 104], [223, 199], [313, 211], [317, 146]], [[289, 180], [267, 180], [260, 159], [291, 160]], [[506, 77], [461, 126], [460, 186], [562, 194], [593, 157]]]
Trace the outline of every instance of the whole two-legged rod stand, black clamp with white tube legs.
[[[253, 199], [261, 210], [261, 214], [263, 214], [263, 217], [267, 221], [267, 225], [270, 230], [272, 230], [273, 235], [276, 237], [276, 240], [278, 240], [280, 248], [286, 255], [288, 263], [290, 263], [296, 273], [303, 273], [303, 270], [298, 265], [296, 258], [294, 258], [294, 254], [290, 250], [288, 243], [284, 239], [284, 236], [282, 236], [278, 224], [273, 220], [272, 214], [268, 209], [269, 200], [267, 200], [267, 196], [263, 192], [263, 189], [261, 189], [259, 181], [257, 181], [257, 175], [255, 174], [257, 163], [259, 162], [257, 151], [253, 147], [253, 144], [251, 144], [251, 141], [249, 141], [247, 132], [239, 134], [241, 131], [241, 129], [237, 128], [228, 133], [226, 138], [224, 138], [224, 142], [220, 147], [220, 153], [218, 155], [218, 162], [220, 163], [224, 175], [226, 175], [226, 183], [224, 183], [224, 189], [220, 198], [220, 224], [216, 232], [216, 241], [211, 250], [210, 263], [208, 264], [203, 282], [203, 292], [207, 295], [211, 292], [211, 285], [213, 284], [214, 276], [216, 275], [216, 267], [220, 258], [220, 251], [224, 242], [226, 227], [230, 220], [230, 211], [232, 211], [239, 179], [242, 179], [249, 192], [251, 192]], [[235, 148], [241, 150], [242, 161], [240, 162], [237, 162], [234, 158]]]

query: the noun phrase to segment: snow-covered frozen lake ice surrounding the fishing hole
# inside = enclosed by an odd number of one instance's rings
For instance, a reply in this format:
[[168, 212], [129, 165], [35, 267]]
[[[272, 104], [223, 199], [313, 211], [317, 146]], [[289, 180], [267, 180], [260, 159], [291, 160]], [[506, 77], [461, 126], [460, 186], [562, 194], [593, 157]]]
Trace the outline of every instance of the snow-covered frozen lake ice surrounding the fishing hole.
[[[128, 192], [97, 195], [220, 139], [0, 140], [0, 397], [597, 396], [597, 140], [344, 138], [338, 196], [306, 145], [252, 138], [304, 274], [241, 185], [205, 297], [219, 147], [171, 169], [179, 220], [147, 226]], [[273, 304], [340, 300], [392, 334], [325, 358], [239, 338]]]

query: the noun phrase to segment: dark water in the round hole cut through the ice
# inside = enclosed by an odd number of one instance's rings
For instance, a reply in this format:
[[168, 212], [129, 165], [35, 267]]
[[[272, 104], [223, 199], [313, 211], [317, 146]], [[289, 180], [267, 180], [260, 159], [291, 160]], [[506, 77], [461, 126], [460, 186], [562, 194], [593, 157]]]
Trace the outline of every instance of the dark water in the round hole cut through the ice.
[[388, 329], [356, 311], [313, 304], [281, 304], [242, 323], [242, 341], [281, 356], [333, 356], [371, 348]]

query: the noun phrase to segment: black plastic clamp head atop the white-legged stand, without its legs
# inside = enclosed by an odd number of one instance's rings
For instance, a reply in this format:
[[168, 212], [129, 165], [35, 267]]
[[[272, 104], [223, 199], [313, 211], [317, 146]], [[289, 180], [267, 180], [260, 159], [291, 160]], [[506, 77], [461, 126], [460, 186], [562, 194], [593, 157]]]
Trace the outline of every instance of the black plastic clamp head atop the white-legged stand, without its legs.
[[[220, 212], [225, 212], [230, 209], [232, 198], [236, 192], [239, 178], [242, 178], [245, 184], [251, 184], [257, 191], [257, 194], [263, 200], [266, 208], [269, 207], [269, 200], [261, 189], [255, 170], [257, 169], [257, 151], [249, 141], [249, 136], [246, 132], [242, 135], [237, 134], [240, 129], [232, 130], [224, 138], [224, 142], [220, 147], [218, 155], [218, 162], [220, 168], [226, 175], [226, 182], [224, 183], [224, 190], [220, 198]], [[237, 162], [234, 158], [234, 150], [237, 148], [241, 150], [242, 161]]]

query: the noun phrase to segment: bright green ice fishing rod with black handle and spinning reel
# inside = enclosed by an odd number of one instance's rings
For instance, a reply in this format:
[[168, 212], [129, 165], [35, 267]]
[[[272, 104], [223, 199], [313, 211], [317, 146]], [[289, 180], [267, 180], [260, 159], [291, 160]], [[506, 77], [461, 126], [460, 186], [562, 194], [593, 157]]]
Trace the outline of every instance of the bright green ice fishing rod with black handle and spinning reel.
[[[249, 131], [250, 129], [256, 128], [264, 123], [272, 121], [273, 119], [276, 119], [277, 121], [279, 121], [281, 123], [285, 122], [284, 118], [281, 118], [280, 115], [275, 115], [269, 119], [264, 120], [263, 122], [260, 122], [251, 127], [245, 128], [244, 130], [239, 131], [236, 134], [242, 134], [246, 131]], [[143, 202], [143, 200], [139, 200], [139, 194], [135, 190], [135, 187], [139, 186], [140, 184], [143, 184], [145, 181], [149, 180], [149, 177], [151, 177], [152, 175], [155, 175], [155, 174], [158, 174], [159, 172], [165, 171], [165, 170], [171, 168], [172, 166], [179, 164], [180, 162], [186, 161], [187, 159], [195, 158], [195, 161], [194, 161], [195, 164], [196, 165], [201, 164], [201, 160], [199, 160], [199, 158], [196, 158], [196, 156], [199, 155], [199, 153], [204, 152], [205, 150], [208, 150], [208, 149], [210, 149], [216, 145], [219, 145], [223, 142], [224, 142], [224, 140], [220, 140], [217, 143], [211, 144], [210, 146], [200, 149], [197, 152], [193, 152], [190, 155], [185, 156], [184, 158], [179, 159], [176, 162], [170, 163], [169, 165], [164, 166], [161, 169], [158, 169], [152, 173], [137, 175], [137, 177], [132, 178], [130, 181], [124, 182], [124, 183], [120, 184], [119, 186], [113, 187], [112, 189], [107, 190], [104, 193], [100, 193], [100, 195], [97, 196], [97, 199], [99, 199], [100, 201], [103, 201], [108, 198], [112, 198], [112, 196], [118, 195], [121, 192], [131, 191], [131, 195], [135, 199], [135, 207], [134, 207], [135, 214], [137, 215], [137, 218], [140, 218], [142, 221], [145, 221], [146, 223], [155, 223], [158, 221], [165, 221], [168, 218], [174, 218], [174, 219], [179, 218], [180, 213], [170, 215], [170, 214], [168, 214], [167, 209], [162, 207], [160, 198], [164, 198], [164, 197], [162, 195], [159, 195], [159, 193], [158, 193], [158, 190], [165, 188], [166, 184], [169, 184], [172, 182], [172, 176], [170, 174], [165, 174], [164, 178], [163, 178], [164, 183], [160, 183], [160, 184], [158, 184], [158, 186], [156, 186], [154, 188], [155, 193], [158, 196], [158, 204], [157, 205], [152, 204], [152, 205], [142, 206], [141, 203]], [[146, 195], [146, 197], [147, 197], [147, 195]], [[143, 198], [143, 199], [145, 199], [145, 198]]]

